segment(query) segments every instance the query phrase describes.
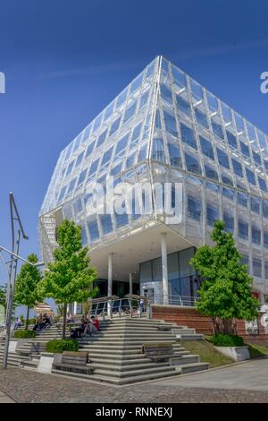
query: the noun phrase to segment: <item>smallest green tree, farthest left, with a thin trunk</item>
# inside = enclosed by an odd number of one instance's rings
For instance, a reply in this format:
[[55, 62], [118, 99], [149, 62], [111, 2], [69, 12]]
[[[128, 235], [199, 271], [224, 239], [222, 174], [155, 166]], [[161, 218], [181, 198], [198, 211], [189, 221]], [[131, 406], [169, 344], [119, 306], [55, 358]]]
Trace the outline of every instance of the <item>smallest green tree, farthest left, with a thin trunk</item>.
[[[38, 262], [38, 256], [34, 253], [29, 254], [28, 261], [31, 263]], [[21, 271], [17, 276], [15, 283], [14, 302], [16, 305], [26, 305], [27, 315], [25, 329], [28, 329], [29, 309], [33, 308], [43, 297], [40, 295], [39, 283], [42, 279], [41, 273], [36, 266], [24, 263]]]

